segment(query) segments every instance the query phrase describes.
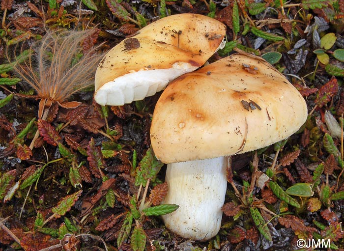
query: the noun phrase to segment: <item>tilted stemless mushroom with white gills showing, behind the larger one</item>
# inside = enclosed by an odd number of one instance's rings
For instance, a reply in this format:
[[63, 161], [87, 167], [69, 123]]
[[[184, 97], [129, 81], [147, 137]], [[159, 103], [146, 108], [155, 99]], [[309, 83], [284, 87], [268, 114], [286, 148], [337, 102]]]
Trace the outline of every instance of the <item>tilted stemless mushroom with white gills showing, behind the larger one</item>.
[[222, 44], [226, 27], [199, 14], [162, 18], [124, 39], [101, 60], [95, 101], [120, 106], [154, 95], [202, 66]]

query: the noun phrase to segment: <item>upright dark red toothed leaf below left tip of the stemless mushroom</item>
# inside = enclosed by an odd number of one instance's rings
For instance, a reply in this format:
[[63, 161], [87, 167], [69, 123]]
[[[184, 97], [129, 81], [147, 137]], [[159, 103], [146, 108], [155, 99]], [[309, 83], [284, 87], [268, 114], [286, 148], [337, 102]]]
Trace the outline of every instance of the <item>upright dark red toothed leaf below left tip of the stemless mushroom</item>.
[[88, 142], [87, 155], [87, 161], [89, 162], [89, 167], [91, 167], [92, 174], [96, 178], [101, 178], [101, 169], [105, 167], [105, 161], [100, 147], [95, 146], [93, 138]]

